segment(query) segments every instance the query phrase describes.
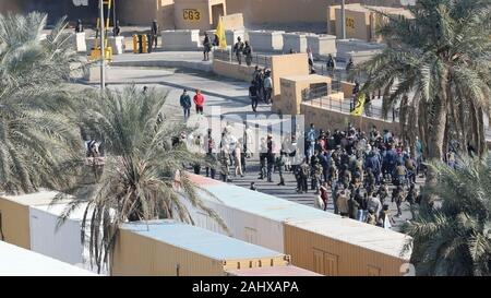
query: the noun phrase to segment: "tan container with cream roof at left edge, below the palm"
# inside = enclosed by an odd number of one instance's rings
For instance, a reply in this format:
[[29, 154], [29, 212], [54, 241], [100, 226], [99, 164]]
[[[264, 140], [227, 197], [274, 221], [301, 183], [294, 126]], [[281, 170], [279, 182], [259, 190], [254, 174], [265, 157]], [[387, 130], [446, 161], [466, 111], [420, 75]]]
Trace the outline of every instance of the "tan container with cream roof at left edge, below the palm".
[[50, 204], [57, 192], [0, 196], [0, 240], [31, 249], [29, 206]]

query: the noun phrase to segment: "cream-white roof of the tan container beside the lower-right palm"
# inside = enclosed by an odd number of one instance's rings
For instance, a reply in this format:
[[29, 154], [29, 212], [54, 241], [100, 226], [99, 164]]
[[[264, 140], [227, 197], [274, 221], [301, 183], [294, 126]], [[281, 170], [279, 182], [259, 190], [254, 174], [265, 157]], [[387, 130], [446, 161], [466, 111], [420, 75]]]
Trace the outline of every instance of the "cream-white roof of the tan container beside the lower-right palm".
[[408, 260], [411, 254], [410, 250], [403, 253], [404, 246], [411, 237], [350, 218], [299, 220], [289, 222], [288, 225], [394, 258]]

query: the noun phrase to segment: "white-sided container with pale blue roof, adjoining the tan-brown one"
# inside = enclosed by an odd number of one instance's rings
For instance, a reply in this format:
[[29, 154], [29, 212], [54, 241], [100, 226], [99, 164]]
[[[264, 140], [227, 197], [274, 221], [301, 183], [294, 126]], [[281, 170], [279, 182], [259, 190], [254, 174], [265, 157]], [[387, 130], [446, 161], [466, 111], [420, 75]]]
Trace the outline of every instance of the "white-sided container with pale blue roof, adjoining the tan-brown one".
[[285, 220], [324, 218], [325, 212], [262, 192], [223, 183], [202, 176], [190, 175], [199, 187], [203, 203], [224, 219], [228, 233], [204, 212], [183, 200], [195, 225], [208, 230], [229, 235], [243, 241], [285, 253]]

